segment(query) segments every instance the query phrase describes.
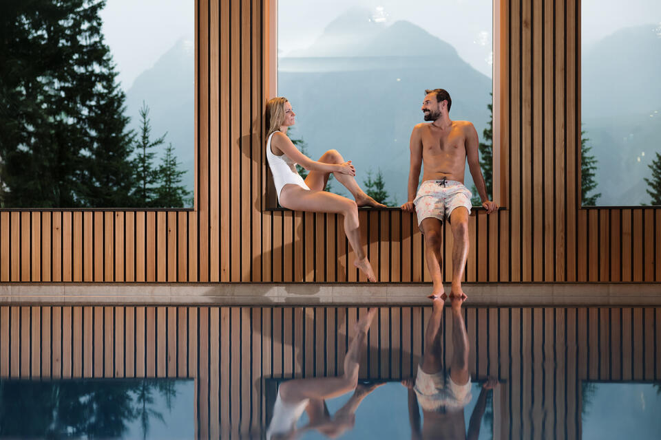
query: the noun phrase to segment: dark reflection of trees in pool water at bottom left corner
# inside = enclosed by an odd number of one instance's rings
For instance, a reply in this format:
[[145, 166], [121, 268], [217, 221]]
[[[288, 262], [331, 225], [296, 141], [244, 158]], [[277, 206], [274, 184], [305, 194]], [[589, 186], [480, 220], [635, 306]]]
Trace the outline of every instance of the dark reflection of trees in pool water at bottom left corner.
[[0, 381], [0, 437], [123, 437], [138, 419], [147, 438], [156, 395], [171, 410], [174, 381]]

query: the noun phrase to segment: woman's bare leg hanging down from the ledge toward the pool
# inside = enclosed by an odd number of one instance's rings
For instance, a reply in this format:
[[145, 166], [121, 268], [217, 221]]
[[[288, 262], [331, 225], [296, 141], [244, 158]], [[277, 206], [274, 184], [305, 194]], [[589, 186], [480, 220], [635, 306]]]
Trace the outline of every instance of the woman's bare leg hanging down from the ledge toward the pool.
[[354, 265], [358, 267], [369, 281], [377, 281], [372, 265], [360, 244], [360, 228], [358, 224], [358, 207], [355, 201], [321, 190], [306, 190], [300, 186], [288, 184], [280, 192], [280, 204], [295, 211], [335, 212], [344, 215], [344, 233], [349, 240], [357, 258]]

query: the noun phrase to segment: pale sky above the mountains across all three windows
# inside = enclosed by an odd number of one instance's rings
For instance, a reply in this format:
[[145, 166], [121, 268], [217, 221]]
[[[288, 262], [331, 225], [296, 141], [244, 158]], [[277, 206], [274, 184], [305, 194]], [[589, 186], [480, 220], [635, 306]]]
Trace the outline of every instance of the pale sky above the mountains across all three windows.
[[[126, 91], [135, 78], [181, 38], [193, 40], [194, 1], [108, 0], [101, 11], [103, 32]], [[309, 45], [344, 10], [359, 5], [386, 23], [408, 20], [457, 47], [465, 61], [491, 76], [491, 0], [278, 0], [278, 45], [282, 54]], [[381, 10], [377, 10], [381, 8]], [[583, 45], [615, 30], [658, 23], [661, 1], [583, 0]]]

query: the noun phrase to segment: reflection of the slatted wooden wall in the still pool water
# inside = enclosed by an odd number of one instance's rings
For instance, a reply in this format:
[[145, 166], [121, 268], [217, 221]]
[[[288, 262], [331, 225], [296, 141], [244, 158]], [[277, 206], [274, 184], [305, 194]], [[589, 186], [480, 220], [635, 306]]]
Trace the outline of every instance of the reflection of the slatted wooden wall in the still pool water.
[[[430, 311], [379, 309], [361, 377], [415, 373]], [[263, 377], [342, 373], [353, 323], [365, 312], [3, 306], [0, 376], [195, 377], [199, 438], [217, 439], [258, 430]], [[578, 438], [578, 381], [661, 380], [661, 308], [466, 308], [464, 317], [472, 377], [499, 377], [499, 393], [511, 396], [505, 408], [496, 406], [496, 438]], [[446, 310], [446, 360], [451, 322]]]

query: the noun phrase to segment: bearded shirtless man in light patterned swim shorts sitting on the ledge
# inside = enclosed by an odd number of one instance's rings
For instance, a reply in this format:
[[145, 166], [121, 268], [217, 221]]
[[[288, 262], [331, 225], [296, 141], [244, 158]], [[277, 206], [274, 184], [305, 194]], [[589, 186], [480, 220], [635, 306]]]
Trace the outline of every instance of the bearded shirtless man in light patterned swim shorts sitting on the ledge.
[[[490, 201], [479, 164], [479, 140], [475, 127], [468, 121], [450, 120], [452, 99], [443, 89], [426, 90], [422, 111], [428, 124], [417, 124], [411, 133], [411, 166], [408, 174], [408, 201], [402, 210], [417, 212], [418, 225], [425, 236], [425, 259], [432, 276], [430, 298], [443, 295], [441, 276], [441, 225], [447, 218], [452, 226], [452, 289], [450, 297], [465, 296], [461, 278], [468, 257], [468, 216], [471, 193], [463, 185], [468, 167], [482, 206], [487, 214], [498, 209]], [[424, 165], [422, 184], [416, 193], [420, 165]]]

